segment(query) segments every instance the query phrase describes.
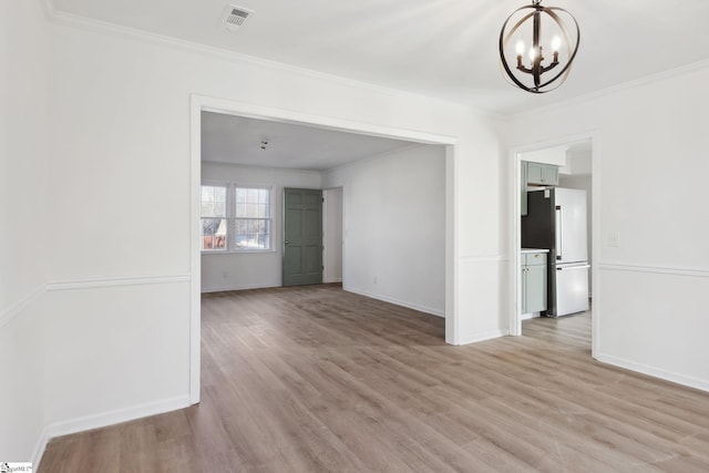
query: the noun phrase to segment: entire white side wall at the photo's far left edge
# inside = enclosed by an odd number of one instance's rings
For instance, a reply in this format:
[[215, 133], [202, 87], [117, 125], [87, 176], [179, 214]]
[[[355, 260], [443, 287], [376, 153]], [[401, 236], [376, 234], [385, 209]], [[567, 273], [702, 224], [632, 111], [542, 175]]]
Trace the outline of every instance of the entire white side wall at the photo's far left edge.
[[38, 2], [0, 3], [0, 459], [43, 443], [47, 21]]

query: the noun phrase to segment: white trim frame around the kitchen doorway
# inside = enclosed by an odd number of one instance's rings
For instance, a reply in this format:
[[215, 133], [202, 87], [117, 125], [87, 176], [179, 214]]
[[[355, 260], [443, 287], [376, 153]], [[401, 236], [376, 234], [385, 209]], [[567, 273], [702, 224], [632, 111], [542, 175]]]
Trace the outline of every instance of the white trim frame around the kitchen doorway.
[[592, 173], [592, 284], [593, 284], [593, 318], [592, 318], [592, 357], [596, 358], [598, 353], [599, 327], [603, 320], [602, 313], [602, 287], [598, 271], [598, 261], [600, 257], [600, 173], [599, 173], [599, 136], [597, 132], [580, 133], [577, 135], [563, 136], [555, 140], [536, 142], [526, 145], [514, 146], [510, 150], [510, 186], [512, 188], [512, 198], [510, 203], [510, 335], [518, 337], [522, 335], [522, 258], [520, 257], [520, 248], [522, 245], [522, 222], [520, 220], [522, 191], [520, 182], [522, 179], [522, 155], [525, 153], [541, 151], [549, 147], [571, 145], [574, 143], [590, 141], [590, 173]]

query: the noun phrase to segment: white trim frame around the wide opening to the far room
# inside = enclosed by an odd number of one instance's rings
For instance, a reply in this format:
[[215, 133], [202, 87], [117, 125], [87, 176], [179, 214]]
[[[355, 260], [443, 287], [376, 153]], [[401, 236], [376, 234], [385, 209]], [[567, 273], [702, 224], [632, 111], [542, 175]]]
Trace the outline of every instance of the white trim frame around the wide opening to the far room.
[[[455, 232], [455, 160], [458, 140], [453, 136], [373, 125], [331, 116], [318, 116], [270, 106], [254, 105], [226, 99], [192, 94], [189, 96], [189, 402], [199, 402], [201, 387], [201, 286], [202, 251], [199, 249], [199, 187], [202, 184], [202, 112], [216, 112], [247, 119], [305, 124], [327, 130], [405, 140], [414, 143], [445, 146], [445, 341], [460, 345], [459, 311], [456, 310], [458, 232]], [[345, 273], [346, 260], [342, 261]]]

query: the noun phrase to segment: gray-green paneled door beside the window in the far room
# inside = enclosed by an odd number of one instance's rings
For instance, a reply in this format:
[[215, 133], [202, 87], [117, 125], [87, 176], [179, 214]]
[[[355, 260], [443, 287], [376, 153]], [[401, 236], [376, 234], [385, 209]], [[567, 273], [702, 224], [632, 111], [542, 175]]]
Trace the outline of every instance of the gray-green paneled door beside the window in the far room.
[[284, 189], [284, 286], [322, 284], [322, 191]]

